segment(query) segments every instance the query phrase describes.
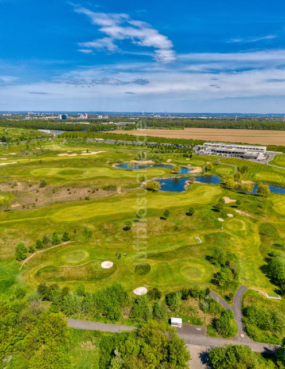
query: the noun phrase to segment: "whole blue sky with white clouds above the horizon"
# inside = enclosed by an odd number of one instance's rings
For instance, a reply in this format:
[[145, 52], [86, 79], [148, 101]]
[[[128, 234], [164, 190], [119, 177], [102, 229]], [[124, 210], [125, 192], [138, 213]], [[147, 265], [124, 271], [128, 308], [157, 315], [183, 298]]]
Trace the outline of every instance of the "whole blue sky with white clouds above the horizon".
[[0, 0], [0, 110], [285, 113], [285, 3]]

